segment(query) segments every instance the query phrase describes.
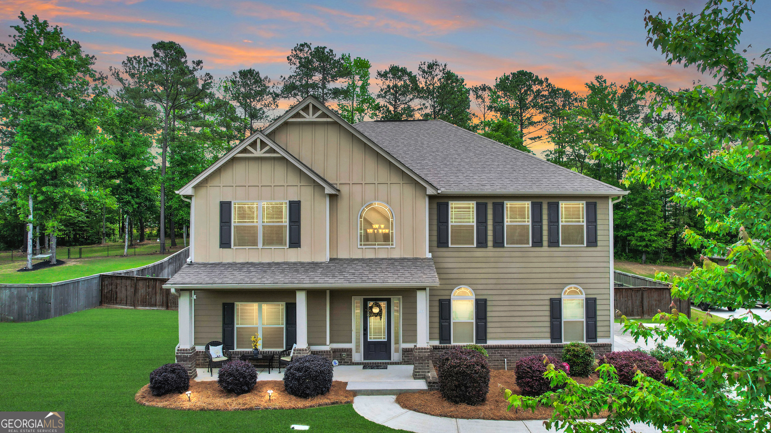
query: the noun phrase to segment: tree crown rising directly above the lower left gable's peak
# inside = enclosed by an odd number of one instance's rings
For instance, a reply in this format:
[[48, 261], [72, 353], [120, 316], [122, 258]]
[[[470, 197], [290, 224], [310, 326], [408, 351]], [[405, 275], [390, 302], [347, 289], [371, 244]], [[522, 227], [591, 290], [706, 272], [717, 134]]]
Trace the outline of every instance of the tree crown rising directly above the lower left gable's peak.
[[[259, 128], [258, 123], [266, 123], [271, 119], [271, 111], [278, 109], [278, 91], [271, 86], [271, 79], [261, 76], [252, 68], [233, 72], [231, 76], [221, 79], [219, 90], [222, 99], [230, 102], [235, 109], [236, 121], [232, 124], [239, 139], [251, 136]], [[221, 117], [227, 118], [226, 114]], [[207, 110], [210, 111], [210, 110]]]

